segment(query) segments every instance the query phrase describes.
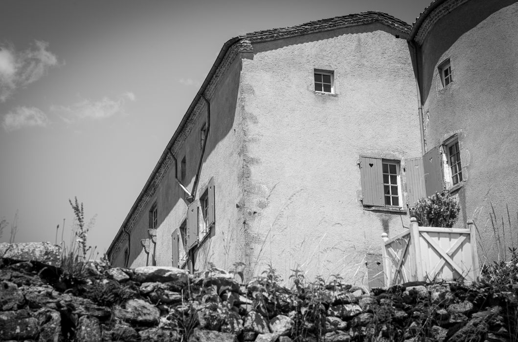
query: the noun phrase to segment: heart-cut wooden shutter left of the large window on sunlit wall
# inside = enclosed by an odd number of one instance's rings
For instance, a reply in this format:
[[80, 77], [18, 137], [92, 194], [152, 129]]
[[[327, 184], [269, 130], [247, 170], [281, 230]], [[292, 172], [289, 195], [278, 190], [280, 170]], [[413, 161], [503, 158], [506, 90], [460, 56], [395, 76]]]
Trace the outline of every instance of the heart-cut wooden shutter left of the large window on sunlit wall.
[[380, 158], [359, 158], [363, 205], [384, 206], [383, 172]]

